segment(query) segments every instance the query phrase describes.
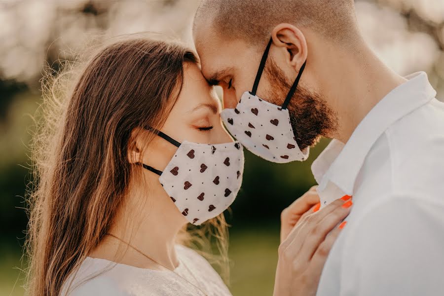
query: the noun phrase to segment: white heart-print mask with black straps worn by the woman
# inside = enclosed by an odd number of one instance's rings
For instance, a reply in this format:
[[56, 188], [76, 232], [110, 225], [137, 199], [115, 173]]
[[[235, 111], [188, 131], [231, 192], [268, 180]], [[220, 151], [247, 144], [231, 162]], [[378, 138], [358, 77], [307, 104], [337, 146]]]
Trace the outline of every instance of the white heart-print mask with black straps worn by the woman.
[[181, 144], [160, 131], [154, 132], [178, 149], [163, 172], [138, 164], [160, 176], [160, 184], [186, 220], [199, 225], [225, 211], [242, 184], [242, 145]]

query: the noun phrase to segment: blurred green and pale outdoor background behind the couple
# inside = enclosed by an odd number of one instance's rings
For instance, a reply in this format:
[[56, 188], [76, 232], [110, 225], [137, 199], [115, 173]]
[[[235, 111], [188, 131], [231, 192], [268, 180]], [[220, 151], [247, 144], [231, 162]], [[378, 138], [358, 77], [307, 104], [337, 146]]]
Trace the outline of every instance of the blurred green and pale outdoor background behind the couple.
[[[41, 102], [44, 61], [54, 69], [71, 59], [88, 36], [163, 32], [191, 42], [199, 0], [0, 0], [0, 295], [23, 295], [21, 260], [27, 215], [29, 143]], [[444, 99], [444, 1], [356, 1], [364, 36], [400, 74], [426, 71]], [[272, 295], [279, 214], [315, 182], [311, 162], [272, 164], [246, 152], [244, 182], [229, 217], [233, 295]]]

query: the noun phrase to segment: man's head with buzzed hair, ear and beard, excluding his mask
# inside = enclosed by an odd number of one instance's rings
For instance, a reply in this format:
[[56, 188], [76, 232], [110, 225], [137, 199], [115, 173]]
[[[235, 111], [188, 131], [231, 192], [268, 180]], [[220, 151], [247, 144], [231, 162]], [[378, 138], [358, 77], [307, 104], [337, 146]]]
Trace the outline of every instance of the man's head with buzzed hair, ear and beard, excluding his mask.
[[331, 69], [343, 66], [342, 57], [359, 54], [355, 49], [363, 42], [353, 0], [202, 0], [193, 37], [202, 74], [222, 87], [230, 109], [251, 91], [271, 38], [258, 97], [281, 106], [306, 63], [288, 105], [296, 142], [304, 149], [321, 135], [335, 135], [337, 98], [327, 98], [324, 89]]

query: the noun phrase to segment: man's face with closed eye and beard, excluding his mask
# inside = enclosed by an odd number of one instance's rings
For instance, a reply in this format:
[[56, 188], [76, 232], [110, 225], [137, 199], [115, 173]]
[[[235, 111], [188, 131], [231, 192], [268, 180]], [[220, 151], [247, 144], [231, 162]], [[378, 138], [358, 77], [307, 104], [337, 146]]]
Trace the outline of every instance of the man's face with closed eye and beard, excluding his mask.
[[[259, 49], [256, 44], [240, 39], [223, 41], [215, 34], [209, 34], [209, 30], [206, 32], [194, 34], [202, 74], [210, 83], [222, 86], [223, 108], [233, 109], [242, 94], [251, 91], [264, 48]], [[278, 106], [282, 105], [293, 84], [288, 78], [291, 73], [285, 64], [285, 56], [280, 52], [271, 46], [257, 91], [259, 98]], [[300, 149], [313, 146], [321, 135], [329, 134], [335, 128], [335, 116], [323, 96], [303, 87], [303, 83], [299, 83], [288, 110]]]

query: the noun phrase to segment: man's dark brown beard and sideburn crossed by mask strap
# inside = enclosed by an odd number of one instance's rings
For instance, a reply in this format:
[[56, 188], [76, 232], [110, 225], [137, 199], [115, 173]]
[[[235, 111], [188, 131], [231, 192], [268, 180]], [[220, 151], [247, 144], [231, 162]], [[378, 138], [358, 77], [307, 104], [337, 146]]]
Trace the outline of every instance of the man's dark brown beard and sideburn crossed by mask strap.
[[[273, 59], [267, 61], [265, 74], [271, 91], [265, 97], [270, 103], [281, 106], [292, 87], [284, 73]], [[297, 86], [288, 104], [290, 123], [299, 149], [314, 146], [321, 136], [332, 134], [336, 129], [337, 119], [322, 95]]]

